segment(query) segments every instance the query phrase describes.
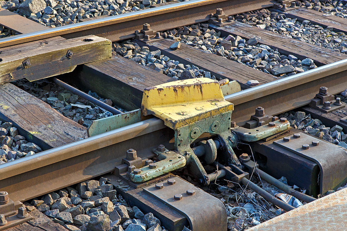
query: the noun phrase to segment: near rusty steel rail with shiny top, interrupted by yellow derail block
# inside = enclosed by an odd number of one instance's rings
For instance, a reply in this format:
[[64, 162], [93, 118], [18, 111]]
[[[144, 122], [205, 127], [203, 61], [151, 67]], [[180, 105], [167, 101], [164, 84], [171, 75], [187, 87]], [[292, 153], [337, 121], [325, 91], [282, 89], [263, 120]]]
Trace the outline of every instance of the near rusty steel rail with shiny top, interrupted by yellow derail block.
[[[276, 115], [310, 103], [320, 86], [330, 87], [333, 94], [345, 90], [346, 69], [347, 60], [341, 60], [225, 98], [234, 103], [231, 115], [237, 122], [247, 120], [257, 106], [265, 105], [265, 112]], [[2, 164], [0, 191], [7, 191], [14, 200], [25, 201], [113, 171], [129, 148], [137, 150], [139, 157], [150, 158], [152, 149], [159, 144], [174, 149], [174, 131], [158, 118], [147, 119]]]

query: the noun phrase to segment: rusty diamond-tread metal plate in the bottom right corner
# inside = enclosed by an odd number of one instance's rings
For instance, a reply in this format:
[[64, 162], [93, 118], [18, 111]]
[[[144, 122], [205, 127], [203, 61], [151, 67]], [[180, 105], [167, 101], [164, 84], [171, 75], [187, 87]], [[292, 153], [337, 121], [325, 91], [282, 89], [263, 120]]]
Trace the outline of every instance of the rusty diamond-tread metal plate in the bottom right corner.
[[347, 230], [347, 190], [341, 189], [246, 231]]

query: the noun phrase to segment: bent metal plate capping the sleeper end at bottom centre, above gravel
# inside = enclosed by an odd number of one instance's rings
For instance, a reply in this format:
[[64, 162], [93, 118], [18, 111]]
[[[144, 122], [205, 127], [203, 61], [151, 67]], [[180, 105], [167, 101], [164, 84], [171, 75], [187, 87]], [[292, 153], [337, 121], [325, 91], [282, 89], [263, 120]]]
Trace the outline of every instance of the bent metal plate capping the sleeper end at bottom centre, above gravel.
[[[177, 212], [184, 214], [189, 220], [192, 231], [227, 230], [226, 209], [219, 199], [179, 177], [171, 179], [175, 179], [174, 185], [169, 185], [167, 181], [164, 181], [162, 189], [156, 189], [155, 185], [152, 185], [143, 190]], [[194, 189], [195, 194], [189, 196], [186, 193], [188, 189]], [[181, 194], [183, 199], [175, 200], [175, 194]]]

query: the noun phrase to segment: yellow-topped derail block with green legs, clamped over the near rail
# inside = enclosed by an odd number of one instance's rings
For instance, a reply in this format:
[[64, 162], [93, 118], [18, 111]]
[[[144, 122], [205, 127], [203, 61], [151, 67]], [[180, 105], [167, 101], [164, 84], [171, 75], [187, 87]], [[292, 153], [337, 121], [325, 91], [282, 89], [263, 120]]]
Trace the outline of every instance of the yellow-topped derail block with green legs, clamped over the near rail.
[[223, 144], [223, 160], [240, 166], [231, 146], [231, 140], [237, 140], [230, 132], [233, 109], [234, 105], [224, 99], [220, 83], [209, 78], [178, 80], [146, 88], [142, 98], [143, 115], [153, 114], [175, 131], [175, 150], [185, 157], [201, 185], [210, 181], [190, 145], [203, 133], [218, 135]]

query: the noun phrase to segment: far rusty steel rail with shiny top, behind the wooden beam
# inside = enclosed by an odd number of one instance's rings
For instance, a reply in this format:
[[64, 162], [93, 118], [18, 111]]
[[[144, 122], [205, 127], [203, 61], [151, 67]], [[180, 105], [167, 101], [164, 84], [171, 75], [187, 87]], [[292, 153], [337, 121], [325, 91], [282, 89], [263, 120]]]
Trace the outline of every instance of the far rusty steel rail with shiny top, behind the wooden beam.
[[149, 23], [151, 29], [155, 31], [164, 31], [208, 21], [210, 14], [215, 13], [217, 8], [222, 8], [227, 15], [234, 15], [271, 7], [276, 2], [275, 0], [190, 0], [1, 38], [0, 48], [54, 36], [76, 38], [96, 35], [115, 42], [134, 38], [135, 30], [141, 30], [144, 23]]

